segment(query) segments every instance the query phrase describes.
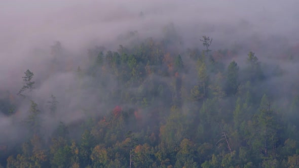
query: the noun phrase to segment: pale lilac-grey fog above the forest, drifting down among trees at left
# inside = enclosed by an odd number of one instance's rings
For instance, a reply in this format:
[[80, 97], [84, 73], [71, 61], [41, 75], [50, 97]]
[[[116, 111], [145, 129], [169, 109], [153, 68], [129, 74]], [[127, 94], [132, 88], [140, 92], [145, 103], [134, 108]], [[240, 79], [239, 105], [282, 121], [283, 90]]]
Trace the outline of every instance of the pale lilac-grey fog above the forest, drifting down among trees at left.
[[[88, 49], [104, 46], [118, 49], [128, 45], [121, 35], [138, 31], [138, 37], [160, 38], [163, 27], [173, 23], [181, 36], [183, 48], [202, 48], [200, 38], [213, 38], [212, 50], [243, 47], [236, 58], [244, 61], [246, 53], [254, 50], [260, 60], [277, 62], [275, 56], [298, 44], [299, 1], [2, 1], [0, 7], [0, 90], [16, 94], [22, 87], [22, 76], [26, 69], [34, 73], [36, 89], [32, 98], [39, 108], [46, 109], [51, 94], [59, 101], [61, 114], [58, 118], [71, 123], [84, 116], [78, 106], [104, 111], [116, 103], [104, 104], [96, 101], [99, 95], [117, 87], [113, 77], [105, 76], [109, 85], [103, 90], [76, 90], [72, 81], [78, 66], [86, 64]], [[61, 55], [51, 54], [51, 46], [60, 41]], [[254, 44], [263, 46], [254, 47]], [[49, 62], [57, 57], [56, 69], [51, 71]], [[68, 61], [70, 60], [71, 63]], [[67, 65], [64, 65], [66, 63]], [[239, 64], [239, 62], [238, 62]], [[242, 64], [242, 63], [240, 63]], [[297, 64], [281, 64], [291, 71]], [[60, 67], [60, 66], [70, 66]], [[64, 71], [59, 70], [64, 69]], [[284, 77], [285, 80], [289, 76]], [[90, 78], [83, 83], [89, 85]], [[168, 79], [164, 79], [168, 80]], [[276, 80], [276, 79], [273, 79]], [[280, 83], [279, 81], [277, 83]], [[91, 84], [90, 84], [91, 85]], [[73, 90], [68, 91], [72, 86]], [[133, 89], [134, 90], [134, 89]], [[79, 96], [80, 95], [80, 96]], [[28, 103], [20, 103], [18, 113], [0, 116], [2, 141], [17, 139], [18, 124], [13, 117], [24, 118]], [[104, 112], [103, 112], [104, 113]], [[57, 122], [45, 116], [46, 127]], [[13, 131], [8, 130], [13, 129]], [[54, 128], [54, 127], [53, 127]]]

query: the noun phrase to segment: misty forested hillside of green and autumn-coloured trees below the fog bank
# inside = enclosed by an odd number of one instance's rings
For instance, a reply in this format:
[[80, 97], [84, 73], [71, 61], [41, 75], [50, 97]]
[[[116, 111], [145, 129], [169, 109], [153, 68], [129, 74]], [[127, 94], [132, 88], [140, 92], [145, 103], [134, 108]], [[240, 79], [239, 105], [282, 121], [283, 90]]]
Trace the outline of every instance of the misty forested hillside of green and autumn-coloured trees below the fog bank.
[[[63, 44], [52, 46], [48, 76], [28, 67], [18, 92], [1, 91], [0, 117], [20, 129], [14, 142], [1, 137], [2, 166], [298, 167], [296, 76], [254, 51], [211, 50], [216, 36], [182, 49], [166, 32], [91, 48], [79, 66], [61, 61]], [[279, 59], [297, 61], [285, 53]], [[69, 83], [38, 99], [51, 69]], [[62, 120], [66, 110], [77, 119]]]

